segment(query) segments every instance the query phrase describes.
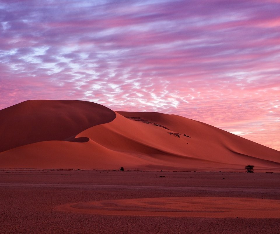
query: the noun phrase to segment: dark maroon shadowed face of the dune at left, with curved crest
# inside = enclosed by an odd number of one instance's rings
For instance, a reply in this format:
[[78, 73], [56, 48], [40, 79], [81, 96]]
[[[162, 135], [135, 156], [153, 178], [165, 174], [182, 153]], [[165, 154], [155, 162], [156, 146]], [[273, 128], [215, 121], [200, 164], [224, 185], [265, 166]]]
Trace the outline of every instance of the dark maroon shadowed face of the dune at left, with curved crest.
[[75, 140], [81, 131], [111, 122], [115, 112], [88, 102], [30, 100], [0, 110], [0, 152], [41, 141]]

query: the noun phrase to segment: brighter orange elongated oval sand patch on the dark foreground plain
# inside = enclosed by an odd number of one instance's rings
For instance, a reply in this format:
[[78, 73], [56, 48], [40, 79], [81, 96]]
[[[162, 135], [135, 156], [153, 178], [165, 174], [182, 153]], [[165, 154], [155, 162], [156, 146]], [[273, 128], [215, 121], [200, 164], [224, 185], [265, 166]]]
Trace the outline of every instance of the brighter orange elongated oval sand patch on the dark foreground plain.
[[280, 201], [240, 197], [156, 197], [66, 204], [60, 211], [133, 216], [280, 218]]

